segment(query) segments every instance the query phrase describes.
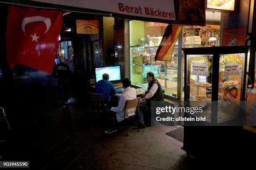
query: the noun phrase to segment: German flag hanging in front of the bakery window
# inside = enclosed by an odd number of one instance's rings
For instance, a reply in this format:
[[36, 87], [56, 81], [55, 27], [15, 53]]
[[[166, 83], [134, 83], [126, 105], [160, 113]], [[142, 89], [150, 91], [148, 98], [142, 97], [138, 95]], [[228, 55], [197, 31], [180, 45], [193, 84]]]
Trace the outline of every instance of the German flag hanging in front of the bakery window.
[[170, 61], [172, 59], [172, 51], [181, 31], [181, 26], [168, 25], [166, 27], [155, 60]]

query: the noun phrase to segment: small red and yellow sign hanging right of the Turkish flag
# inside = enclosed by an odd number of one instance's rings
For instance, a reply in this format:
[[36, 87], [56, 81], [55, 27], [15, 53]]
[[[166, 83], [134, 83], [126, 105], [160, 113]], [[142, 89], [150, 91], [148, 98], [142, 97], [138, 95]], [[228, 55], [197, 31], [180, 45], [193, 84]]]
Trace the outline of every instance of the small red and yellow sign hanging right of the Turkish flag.
[[77, 20], [77, 34], [99, 34], [99, 21]]

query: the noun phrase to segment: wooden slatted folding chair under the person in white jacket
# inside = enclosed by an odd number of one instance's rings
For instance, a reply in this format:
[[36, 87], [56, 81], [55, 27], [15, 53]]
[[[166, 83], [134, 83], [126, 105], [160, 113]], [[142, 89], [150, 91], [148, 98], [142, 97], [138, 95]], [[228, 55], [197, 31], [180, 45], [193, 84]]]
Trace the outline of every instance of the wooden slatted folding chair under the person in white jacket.
[[[124, 124], [125, 124], [126, 136], [128, 136], [128, 132], [127, 132], [127, 130], [128, 130], [128, 123], [129, 123], [131, 120], [133, 120], [133, 122], [135, 122], [135, 124], [137, 125], [136, 128], [137, 128], [137, 130], [139, 131], [138, 123], [133, 119], [133, 116], [135, 116], [135, 115], [132, 115], [132, 116], [130, 116], [130, 117], [128, 117], [128, 118], [125, 118], [125, 115], [131, 113], [131, 112], [127, 112], [128, 109], [132, 109], [132, 108], [136, 108], [136, 109], [137, 109], [137, 108], [138, 108], [140, 98], [141, 98], [141, 97], [138, 97], [138, 98], [136, 98], [136, 99], [127, 100], [127, 101], [125, 102], [125, 106], [124, 106], [124, 120], [121, 121], [121, 122], [124, 122]], [[136, 110], [135, 110], [135, 111], [136, 111]], [[120, 122], [120, 123], [121, 123], [121, 122]], [[131, 127], [131, 128], [134, 128], [134, 127]]]

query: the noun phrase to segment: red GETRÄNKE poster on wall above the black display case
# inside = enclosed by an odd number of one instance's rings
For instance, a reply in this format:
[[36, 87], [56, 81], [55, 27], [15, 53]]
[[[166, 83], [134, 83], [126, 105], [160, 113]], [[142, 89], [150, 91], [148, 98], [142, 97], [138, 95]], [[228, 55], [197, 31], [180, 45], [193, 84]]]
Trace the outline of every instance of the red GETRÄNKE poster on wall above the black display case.
[[222, 46], [241, 46], [246, 44], [246, 28], [223, 30]]

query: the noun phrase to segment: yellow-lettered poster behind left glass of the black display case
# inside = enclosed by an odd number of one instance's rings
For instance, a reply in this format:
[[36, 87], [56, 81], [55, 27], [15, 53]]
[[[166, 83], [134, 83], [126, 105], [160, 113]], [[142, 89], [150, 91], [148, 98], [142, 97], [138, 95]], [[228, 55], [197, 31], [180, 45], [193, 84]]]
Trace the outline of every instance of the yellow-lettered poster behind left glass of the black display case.
[[[208, 79], [211, 80], [210, 72], [212, 63], [208, 57], [197, 56], [189, 58], [189, 71], [190, 71], [190, 95], [191, 96], [206, 96], [211, 93], [211, 87]], [[196, 87], [198, 83], [207, 83], [205, 87]], [[211, 82], [211, 81], [210, 81]], [[204, 85], [202, 85], [204, 86]], [[209, 88], [207, 88], [209, 87]], [[208, 97], [211, 97], [210, 95]]]

